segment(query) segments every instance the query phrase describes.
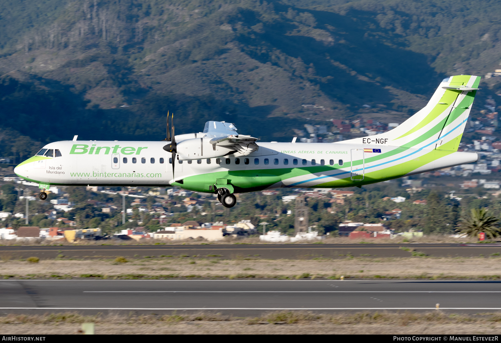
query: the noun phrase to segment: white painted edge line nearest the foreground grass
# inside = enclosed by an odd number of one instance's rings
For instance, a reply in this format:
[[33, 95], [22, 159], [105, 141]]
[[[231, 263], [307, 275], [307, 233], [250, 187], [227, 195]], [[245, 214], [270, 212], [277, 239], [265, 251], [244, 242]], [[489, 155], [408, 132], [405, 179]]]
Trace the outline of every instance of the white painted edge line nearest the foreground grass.
[[[435, 307], [0, 307], [0, 309], [43, 309], [43, 310], [436, 310]], [[440, 307], [463, 310], [501, 310], [501, 307]]]

